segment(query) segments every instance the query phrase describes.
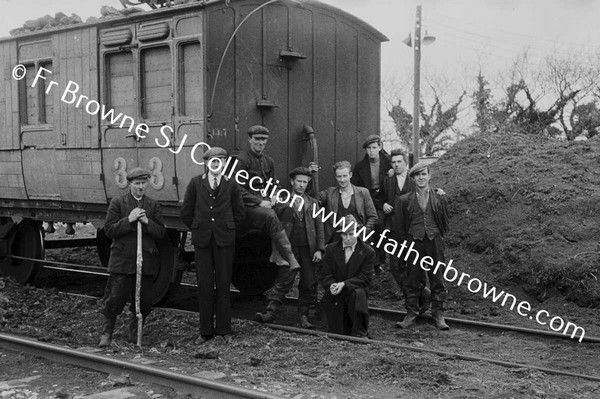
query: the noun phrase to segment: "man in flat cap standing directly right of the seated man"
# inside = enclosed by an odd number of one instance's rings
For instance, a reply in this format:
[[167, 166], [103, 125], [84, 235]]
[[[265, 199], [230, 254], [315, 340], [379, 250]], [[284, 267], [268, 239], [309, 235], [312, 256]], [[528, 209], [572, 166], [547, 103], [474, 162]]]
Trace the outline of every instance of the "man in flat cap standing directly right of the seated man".
[[[298, 283], [299, 324], [302, 328], [313, 328], [308, 320], [308, 310], [317, 300], [316, 263], [322, 260], [325, 252], [323, 221], [319, 217], [313, 217], [313, 211], [319, 209], [317, 200], [305, 193], [312, 177], [311, 171], [308, 168], [297, 167], [289, 176], [293, 196], [289, 203], [278, 203], [274, 209], [292, 244], [294, 256], [301, 265]], [[295, 276], [296, 273], [287, 268], [279, 268], [275, 285], [268, 295], [266, 312], [257, 313], [257, 321], [272, 323], [275, 320], [285, 295], [294, 285]]]

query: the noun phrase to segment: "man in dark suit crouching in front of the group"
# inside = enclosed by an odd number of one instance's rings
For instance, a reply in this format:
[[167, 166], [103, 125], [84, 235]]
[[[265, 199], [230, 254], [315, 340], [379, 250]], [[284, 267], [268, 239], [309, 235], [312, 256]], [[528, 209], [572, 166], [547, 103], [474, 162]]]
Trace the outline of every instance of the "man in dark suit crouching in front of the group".
[[329, 332], [367, 337], [369, 328], [369, 287], [373, 277], [375, 251], [354, 236], [353, 216], [345, 218], [338, 232], [341, 240], [325, 247], [321, 285]]

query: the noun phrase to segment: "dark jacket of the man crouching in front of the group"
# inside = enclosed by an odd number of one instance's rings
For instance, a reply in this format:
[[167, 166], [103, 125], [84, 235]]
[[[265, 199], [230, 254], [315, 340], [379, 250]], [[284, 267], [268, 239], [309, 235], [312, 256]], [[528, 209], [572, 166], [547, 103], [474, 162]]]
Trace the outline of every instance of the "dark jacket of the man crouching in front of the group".
[[[323, 302], [333, 303], [339, 295], [349, 295], [356, 291], [356, 310], [367, 313], [369, 288], [373, 278], [375, 265], [375, 250], [365, 245], [360, 240], [352, 256], [345, 264], [344, 248], [341, 241], [335, 241], [325, 247], [323, 269], [321, 271], [321, 285], [325, 289]], [[331, 294], [331, 284], [343, 281], [344, 289], [337, 296]]]

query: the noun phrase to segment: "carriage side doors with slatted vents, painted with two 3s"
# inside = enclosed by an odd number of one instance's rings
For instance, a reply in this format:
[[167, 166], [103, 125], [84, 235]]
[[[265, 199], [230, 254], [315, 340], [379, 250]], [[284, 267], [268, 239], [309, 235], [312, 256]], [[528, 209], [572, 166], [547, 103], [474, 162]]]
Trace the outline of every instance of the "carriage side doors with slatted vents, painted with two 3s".
[[170, 21], [139, 23], [101, 32], [101, 114], [105, 187], [109, 198], [127, 187], [127, 172], [147, 168], [148, 194], [177, 201], [175, 155], [159, 146], [173, 126], [173, 56]]

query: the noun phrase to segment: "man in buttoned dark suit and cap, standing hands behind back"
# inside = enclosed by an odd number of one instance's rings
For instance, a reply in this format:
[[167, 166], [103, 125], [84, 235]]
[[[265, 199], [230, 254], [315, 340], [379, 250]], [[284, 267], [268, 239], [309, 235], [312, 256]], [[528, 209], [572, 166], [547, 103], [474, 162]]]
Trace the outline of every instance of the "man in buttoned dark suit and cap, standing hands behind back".
[[203, 158], [208, 173], [192, 178], [181, 207], [181, 219], [192, 231], [194, 245], [200, 305], [200, 337], [196, 341], [199, 344], [215, 334], [232, 333], [229, 288], [235, 232], [242, 227], [245, 216], [239, 185], [223, 175], [227, 151], [213, 147]]

